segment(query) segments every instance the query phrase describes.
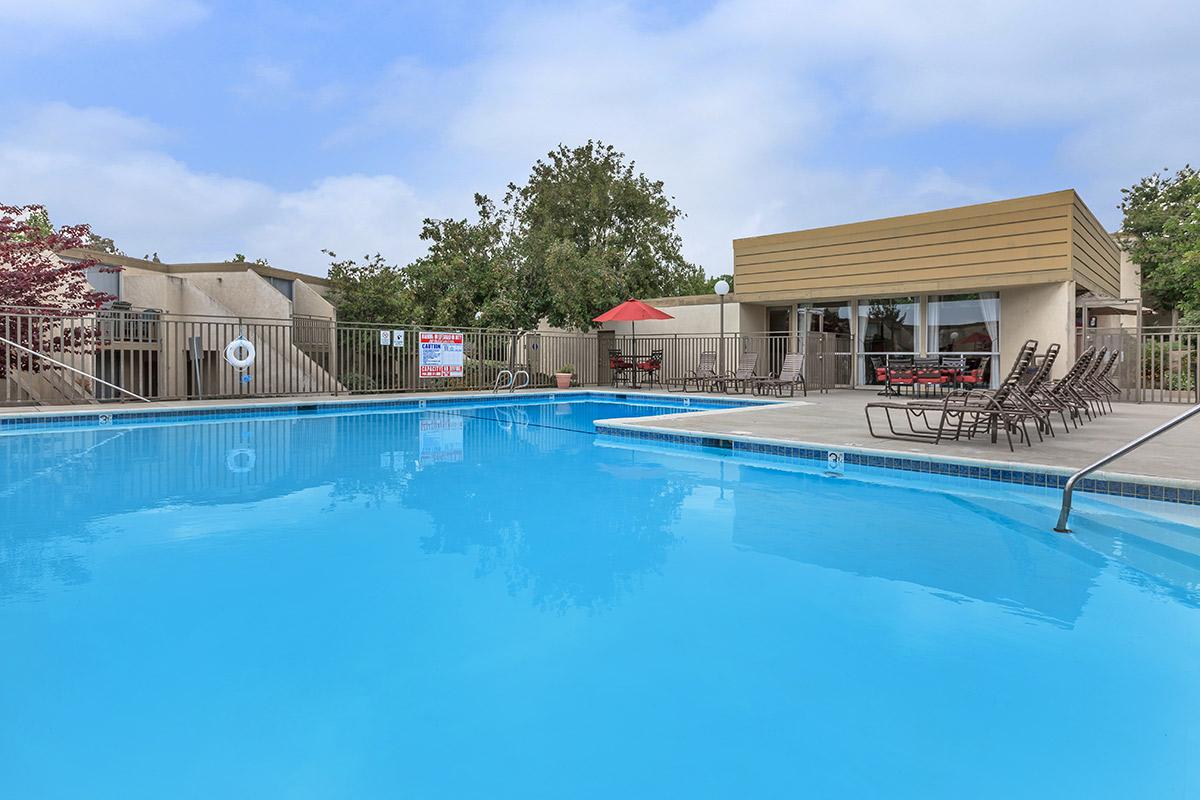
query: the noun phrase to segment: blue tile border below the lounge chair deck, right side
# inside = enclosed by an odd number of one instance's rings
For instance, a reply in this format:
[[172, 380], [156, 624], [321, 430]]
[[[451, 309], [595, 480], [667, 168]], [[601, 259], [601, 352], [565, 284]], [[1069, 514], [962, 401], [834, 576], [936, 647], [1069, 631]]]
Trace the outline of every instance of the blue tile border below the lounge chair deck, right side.
[[[620, 439], [719, 449], [744, 455], [780, 456], [822, 463], [829, 461], [830, 453], [840, 453], [844, 463], [847, 465], [877, 467], [908, 473], [928, 473], [931, 475], [996, 481], [1000, 483], [1021, 483], [1052, 489], [1063, 488], [1072, 474], [1072, 470], [1055, 470], [1054, 468], [1037, 468], [1032, 465], [967, 459], [940, 461], [881, 450], [830, 447], [828, 445], [794, 441], [748, 440], [713, 433], [667, 432], [661, 428], [635, 427], [604, 420], [596, 422], [596, 431], [604, 435]], [[1183, 505], [1200, 505], [1200, 488], [1175, 486], [1165, 482], [1165, 480], [1164, 482], [1157, 482], [1148, 476], [1145, 480], [1138, 480], [1138, 477], [1129, 475], [1121, 475], [1118, 477], [1116, 475], [1097, 473], [1096, 477], [1085, 477], [1081, 480], [1076, 485], [1075, 491], [1123, 498], [1140, 498], [1144, 500], [1162, 500], [1164, 503], [1178, 503]]]

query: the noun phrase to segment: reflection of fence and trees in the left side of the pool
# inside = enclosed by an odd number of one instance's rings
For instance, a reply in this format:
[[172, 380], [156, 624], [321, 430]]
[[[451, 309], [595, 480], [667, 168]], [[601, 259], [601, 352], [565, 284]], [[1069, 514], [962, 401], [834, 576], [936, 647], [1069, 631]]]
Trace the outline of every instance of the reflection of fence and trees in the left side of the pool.
[[[593, 414], [653, 410], [559, 403], [0, 437], [0, 597], [86, 582], [80, 554], [131, 515], [170, 511], [163, 533], [184, 509], [190, 535], [204, 533], [204, 509], [212, 531], [286, 530], [314, 523], [308, 505], [271, 503], [268, 515], [268, 501], [324, 487], [330, 533], [352, 517], [356, 530], [390, 530], [397, 510], [420, 511], [426, 527], [397, 533], [424, 552], [469, 554], [539, 607], [602, 606], [665, 564], [690, 483], [632, 453], [593, 457]], [[224, 506], [264, 513], [217, 522]]]

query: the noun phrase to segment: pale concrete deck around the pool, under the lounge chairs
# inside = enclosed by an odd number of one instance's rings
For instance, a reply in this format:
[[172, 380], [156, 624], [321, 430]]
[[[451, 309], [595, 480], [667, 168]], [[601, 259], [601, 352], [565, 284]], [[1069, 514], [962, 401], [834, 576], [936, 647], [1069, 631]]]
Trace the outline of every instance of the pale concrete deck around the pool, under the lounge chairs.
[[[515, 396], [553, 390], [530, 390]], [[706, 395], [680, 392], [649, 392], [612, 390], [607, 387], [583, 387], [568, 390], [574, 393], [617, 392], [626, 395], [661, 395], [678, 401], [682, 397], [702, 399]], [[568, 393], [563, 392], [563, 393]], [[215, 409], [222, 407], [294, 405], [302, 404], [356, 404], [364, 402], [418, 401], [422, 398], [470, 397], [494, 398], [492, 392], [422, 392], [401, 395], [362, 396], [304, 396], [265, 397], [220, 401], [179, 401], [145, 403], [104, 403], [103, 405], [28, 405], [0, 409], [0, 419], [7, 416], [41, 416], [70, 414], [108, 414], [145, 410]], [[504, 395], [500, 395], [504, 397]], [[718, 395], [716, 397], [728, 397]], [[732, 396], [745, 398], [745, 396]], [[871, 391], [835, 390], [828, 393], [810, 392], [806, 398], [785, 398], [780, 403], [756, 408], [716, 409], [678, 415], [636, 417], [622, 421], [620, 427], [672, 432], [678, 434], [725, 437], [734, 440], [810, 445], [829, 450], [860, 450], [878, 453], [916, 455], [935, 459], [986, 462], [991, 465], [1050, 468], [1052, 471], [1073, 471], [1085, 467], [1136, 437], [1151, 431], [1166, 420], [1182, 414], [1188, 407], [1175, 404], [1116, 403], [1112, 414], [1100, 416], [1069, 434], [1057, 425], [1057, 435], [1033, 446], [1018, 445], [1009, 452], [1001, 440], [949, 441], [941, 445], [872, 438], [866, 429], [863, 407], [880, 399]], [[1151, 441], [1124, 456], [1103, 474], [1152, 477], [1163, 482], [1200, 488], [1200, 420], [1189, 421], [1164, 437]]]

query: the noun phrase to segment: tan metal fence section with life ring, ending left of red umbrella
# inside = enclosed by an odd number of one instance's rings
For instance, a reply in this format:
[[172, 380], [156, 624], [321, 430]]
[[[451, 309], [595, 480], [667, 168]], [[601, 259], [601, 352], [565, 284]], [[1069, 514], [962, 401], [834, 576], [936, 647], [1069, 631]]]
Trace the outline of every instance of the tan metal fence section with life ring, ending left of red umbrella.
[[[463, 336], [461, 377], [420, 377], [421, 331]], [[553, 373], [575, 366], [581, 384], [599, 377], [590, 333], [521, 332], [414, 325], [340, 323], [324, 318], [251, 319], [104, 309], [0, 309], [0, 404], [71, 404], [121, 398], [206, 399], [486, 390], [500, 369], [521, 365], [516, 387], [548, 387]], [[254, 363], [238, 371], [223, 355], [245, 336]], [[20, 348], [28, 348], [22, 350]], [[46, 356], [89, 383], [67, 378]]]

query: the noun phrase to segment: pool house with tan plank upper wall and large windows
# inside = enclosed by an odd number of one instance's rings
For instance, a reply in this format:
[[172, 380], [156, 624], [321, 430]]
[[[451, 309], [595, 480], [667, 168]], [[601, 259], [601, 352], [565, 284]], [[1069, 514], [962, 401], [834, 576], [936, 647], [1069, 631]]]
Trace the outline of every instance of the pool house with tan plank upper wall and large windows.
[[736, 239], [733, 278], [725, 297], [652, 300], [674, 319], [638, 332], [767, 337], [772, 361], [798, 350], [810, 374], [863, 386], [874, 367], [914, 356], [965, 356], [994, 375], [1027, 338], [1062, 343], [1069, 365], [1081, 314], [1133, 325], [1122, 299], [1140, 296], [1074, 190]]

